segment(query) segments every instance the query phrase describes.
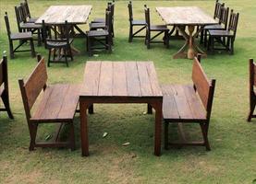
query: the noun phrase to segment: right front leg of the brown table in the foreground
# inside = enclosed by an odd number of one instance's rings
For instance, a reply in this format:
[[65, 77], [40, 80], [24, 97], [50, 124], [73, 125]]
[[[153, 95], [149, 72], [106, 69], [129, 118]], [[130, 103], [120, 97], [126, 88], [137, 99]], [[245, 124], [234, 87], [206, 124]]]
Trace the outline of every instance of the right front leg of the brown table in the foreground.
[[155, 102], [155, 123], [154, 123], [154, 155], [161, 155], [161, 135], [162, 135], [162, 101]]

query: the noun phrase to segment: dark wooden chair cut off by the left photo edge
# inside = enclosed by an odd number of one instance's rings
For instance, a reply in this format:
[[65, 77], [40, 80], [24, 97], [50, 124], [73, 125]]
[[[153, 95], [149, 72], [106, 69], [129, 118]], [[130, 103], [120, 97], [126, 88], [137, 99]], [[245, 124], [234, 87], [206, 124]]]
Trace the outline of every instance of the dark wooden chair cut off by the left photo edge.
[[8, 87], [8, 68], [7, 57], [4, 56], [0, 61], [0, 98], [2, 99], [5, 108], [0, 111], [6, 111], [10, 119], [14, 119], [9, 103], [9, 87]]

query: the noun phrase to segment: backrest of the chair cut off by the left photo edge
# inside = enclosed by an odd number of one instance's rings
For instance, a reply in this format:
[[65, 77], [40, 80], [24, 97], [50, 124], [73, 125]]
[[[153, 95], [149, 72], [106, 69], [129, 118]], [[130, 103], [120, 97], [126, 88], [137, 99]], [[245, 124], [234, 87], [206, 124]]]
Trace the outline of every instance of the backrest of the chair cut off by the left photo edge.
[[0, 96], [4, 91], [8, 93], [8, 69], [6, 56], [3, 56], [3, 59], [0, 61]]

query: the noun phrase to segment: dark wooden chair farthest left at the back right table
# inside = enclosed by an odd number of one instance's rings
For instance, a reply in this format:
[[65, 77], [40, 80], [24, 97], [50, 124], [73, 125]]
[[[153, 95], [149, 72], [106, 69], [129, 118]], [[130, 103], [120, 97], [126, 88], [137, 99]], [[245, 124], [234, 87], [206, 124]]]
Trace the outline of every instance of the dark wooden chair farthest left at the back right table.
[[[133, 19], [133, 12], [132, 12], [132, 3], [129, 1], [128, 3], [128, 20], [129, 20], [129, 35], [128, 35], [128, 42], [132, 42], [133, 38], [145, 38], [145, 36], [138, 36], [143, 29], [146, 29], [146, 21], [145, 20], [135, 20]], [[136, 32], [133, 33], [133, 27], [140, 28]]]

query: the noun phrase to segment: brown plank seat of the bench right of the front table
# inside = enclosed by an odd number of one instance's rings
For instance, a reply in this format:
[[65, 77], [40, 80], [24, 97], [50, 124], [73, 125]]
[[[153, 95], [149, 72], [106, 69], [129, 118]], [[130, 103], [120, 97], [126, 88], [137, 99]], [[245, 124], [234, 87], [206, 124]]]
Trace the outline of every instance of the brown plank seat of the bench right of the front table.
[[206, 121], [206, 110], [191, 85], [162, 86], [165, 121]]

